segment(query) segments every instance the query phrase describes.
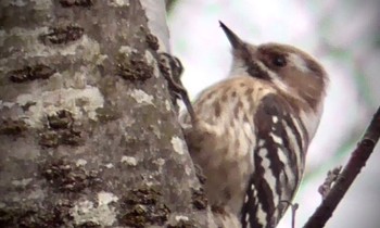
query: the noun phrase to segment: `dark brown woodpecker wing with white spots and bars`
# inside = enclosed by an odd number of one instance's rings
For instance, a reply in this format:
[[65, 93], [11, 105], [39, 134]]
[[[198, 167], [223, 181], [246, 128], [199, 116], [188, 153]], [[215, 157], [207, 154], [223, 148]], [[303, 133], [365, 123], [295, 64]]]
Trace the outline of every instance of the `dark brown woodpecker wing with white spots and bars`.
[[263, 98], [254, 115], [256, 144], [241, 211], [243, 228], [275, 227], [291, 202], [304, 169], [307, 134], [280, 97]]

